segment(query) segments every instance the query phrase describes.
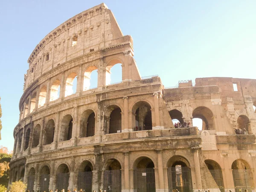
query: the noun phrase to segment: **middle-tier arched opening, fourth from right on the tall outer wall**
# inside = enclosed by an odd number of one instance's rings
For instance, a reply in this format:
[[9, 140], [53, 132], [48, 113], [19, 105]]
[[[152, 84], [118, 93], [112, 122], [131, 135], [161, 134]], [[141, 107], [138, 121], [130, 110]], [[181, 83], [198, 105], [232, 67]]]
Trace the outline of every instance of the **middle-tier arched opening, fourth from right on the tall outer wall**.
[[61, 121], [60, 141], [70, 140], [72, 137], [73, 117], [66, 115]]

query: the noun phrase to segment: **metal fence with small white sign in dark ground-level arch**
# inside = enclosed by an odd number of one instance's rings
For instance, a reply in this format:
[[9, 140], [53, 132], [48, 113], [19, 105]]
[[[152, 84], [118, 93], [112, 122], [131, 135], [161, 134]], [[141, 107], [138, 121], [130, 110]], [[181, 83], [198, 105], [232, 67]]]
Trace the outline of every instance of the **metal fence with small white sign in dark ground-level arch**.
[[134, 189], [137, 192], [155, 192], [154, 168], [134, 169]]

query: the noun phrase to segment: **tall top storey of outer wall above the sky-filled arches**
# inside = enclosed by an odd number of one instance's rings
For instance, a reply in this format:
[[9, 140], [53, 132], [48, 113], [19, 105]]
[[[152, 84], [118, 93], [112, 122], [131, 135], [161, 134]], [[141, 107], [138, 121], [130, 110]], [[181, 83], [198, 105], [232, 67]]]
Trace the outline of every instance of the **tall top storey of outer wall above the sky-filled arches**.
[[80, 55], [123, 43], [122, 37], [113, 13], [104, 3], [70, 18], [50, 32], [30, 55], [24, 90], [52, 68]]

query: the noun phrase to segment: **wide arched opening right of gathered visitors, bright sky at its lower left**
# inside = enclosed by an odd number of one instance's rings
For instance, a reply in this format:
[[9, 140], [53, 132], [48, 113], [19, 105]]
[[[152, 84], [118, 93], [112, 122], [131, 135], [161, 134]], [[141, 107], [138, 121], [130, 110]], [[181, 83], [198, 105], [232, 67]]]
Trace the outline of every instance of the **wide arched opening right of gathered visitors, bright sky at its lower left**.
[[[193, 119], [198, 118], [202, 120], [202, 129], [201, 130], [214, 130], [213, 114], [209, 108], [198, 107], [192, 113]], [[194, 122], [200, 125], [200, 120], [195, 119]], [[193, 126], [195, 126], [193, 124]], [[199, 128], [198, 128], [199, 129]]]

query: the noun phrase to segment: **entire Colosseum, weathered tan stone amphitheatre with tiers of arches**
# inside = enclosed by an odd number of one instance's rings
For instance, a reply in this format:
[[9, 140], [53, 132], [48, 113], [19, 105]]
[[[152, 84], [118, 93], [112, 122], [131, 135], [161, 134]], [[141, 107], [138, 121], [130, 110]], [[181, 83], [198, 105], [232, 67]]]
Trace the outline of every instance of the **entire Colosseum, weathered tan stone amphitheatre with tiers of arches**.
[[[253, 192], [256, 79], [197, 78], [165, 88], [158, 76], [142, 78], [133, 56], [133, 39], [104, 3], [35, 47], [9, 184], [23, 180], [35, 192]], [[115, 64], [122, 82], [111, 84]]]

